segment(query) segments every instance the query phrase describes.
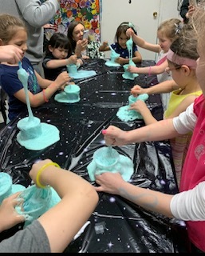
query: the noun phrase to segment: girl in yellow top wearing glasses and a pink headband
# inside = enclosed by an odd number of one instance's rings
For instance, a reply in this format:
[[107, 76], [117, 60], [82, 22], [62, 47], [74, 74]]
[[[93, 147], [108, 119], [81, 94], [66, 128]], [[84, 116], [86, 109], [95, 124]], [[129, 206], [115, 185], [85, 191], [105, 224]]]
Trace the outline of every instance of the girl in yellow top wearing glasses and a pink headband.
[[[179, 38], [172, 42], [170, 50], [168, 50], [167, 59], [170, 66], [168, 69], [171, 71], [173, 80], [177, 84], [177, 90], [171, 93], [168, 109], [164, 112], [164, 119], [177, 117], [181, 112], [187, 109], [187, 106], [195, 101], [195, 98], [202, 94], [199, 82], [195, 76], [196, 59], [199, 58], [196, 46], [197, 39], [195, 38], [195, 32], [190, 30], [189, 26], [184, 26], [183, 31], [179, 33]], [[171, 81], [166, 82], [169, 84]], [[168, 91], [171, 92], [170, 85], [163, 86], [164, 88], [167, 87]], [[152, 89], [152, 87], [156, 88]], [[153, 91], [160, 93], [160, 88], [162, 88], [160, 84], [145, 89], [140, 89], [140, 86], [134, 86], [131, 92], [135, 96], [138, 90], [140, 90], [140, 93], [152, 94]], [[157, 122], [156, 118], [152, 116], [151, 111], [143, 101], [136, 101], [132, 104], [130, 109], [138, 111], [143, 116], [146, 125]], [[192, 133], [180, 134], [178, 137], [170, 139], [178, 185], [191, 135]]]

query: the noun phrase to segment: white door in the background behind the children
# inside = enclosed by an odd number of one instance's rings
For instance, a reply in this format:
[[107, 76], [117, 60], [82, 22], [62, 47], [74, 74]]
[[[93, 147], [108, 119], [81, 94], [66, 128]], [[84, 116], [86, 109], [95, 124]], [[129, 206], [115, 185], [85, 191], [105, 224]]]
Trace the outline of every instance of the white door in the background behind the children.
[[[129, 3], [130, 2], [130, 3]], [[117, 26], [132, 22], [137, 34], [147, 42], [157, 43], [159, 24], [167, 18], [179, 18], [178, 0], [101, 0], [101, 42], [114, 42]], [[139, 47], [143, 59], [156, 60], [156, 53]], [[110, 53], [106, 52], [109, 58]]]

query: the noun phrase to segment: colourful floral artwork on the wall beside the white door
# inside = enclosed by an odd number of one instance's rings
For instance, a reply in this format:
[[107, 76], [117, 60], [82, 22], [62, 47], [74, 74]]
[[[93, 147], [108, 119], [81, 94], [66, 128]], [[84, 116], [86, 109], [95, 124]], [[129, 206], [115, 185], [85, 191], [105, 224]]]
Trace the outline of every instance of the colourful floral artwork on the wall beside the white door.
[[91, 40], [99, 41], [101, 38], [100, 2], [101, 0], [61, 0], [61, 8], [50, 23], [57, 25], [57, 32], [67, 34], [70, 22], [82, 21], [86, 30], [89, 30]]

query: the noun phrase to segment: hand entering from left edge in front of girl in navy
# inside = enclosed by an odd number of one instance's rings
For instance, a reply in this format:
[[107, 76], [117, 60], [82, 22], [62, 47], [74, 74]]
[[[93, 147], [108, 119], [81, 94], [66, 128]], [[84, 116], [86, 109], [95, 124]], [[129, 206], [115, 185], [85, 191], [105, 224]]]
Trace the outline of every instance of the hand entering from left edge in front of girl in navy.
[[18, 46], [0, 46], [0, 62], [16, 64], [22, 61], [23, 51]]

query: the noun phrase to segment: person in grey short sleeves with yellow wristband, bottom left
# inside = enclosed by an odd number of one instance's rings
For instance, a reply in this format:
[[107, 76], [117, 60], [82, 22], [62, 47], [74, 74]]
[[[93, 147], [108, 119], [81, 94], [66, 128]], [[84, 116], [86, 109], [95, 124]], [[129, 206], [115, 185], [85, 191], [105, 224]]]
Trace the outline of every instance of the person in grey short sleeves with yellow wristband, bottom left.
[[[63, 253], [95, 210], [97, 192], [80, 175], [57, 167], [49, 159], [34, 163], [30, 178], [38, 187], [52, 186], [61, 201], [29, 226], [0, 242], [0, 253]], [[25, 221], [15, 210], [21, 204], [18, 194], [4, 199], [0, 206], [0, 232]]]

